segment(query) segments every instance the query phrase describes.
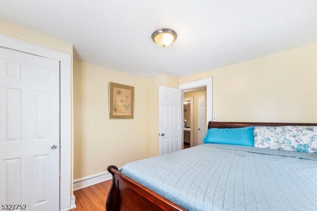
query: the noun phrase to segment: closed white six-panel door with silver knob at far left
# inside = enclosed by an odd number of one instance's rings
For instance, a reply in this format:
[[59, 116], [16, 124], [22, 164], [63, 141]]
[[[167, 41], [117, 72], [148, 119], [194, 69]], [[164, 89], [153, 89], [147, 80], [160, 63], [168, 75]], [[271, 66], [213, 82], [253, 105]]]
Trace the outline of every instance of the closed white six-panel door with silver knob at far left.
[[59, 61], [1, 48], [0, 204], [59, 210]]

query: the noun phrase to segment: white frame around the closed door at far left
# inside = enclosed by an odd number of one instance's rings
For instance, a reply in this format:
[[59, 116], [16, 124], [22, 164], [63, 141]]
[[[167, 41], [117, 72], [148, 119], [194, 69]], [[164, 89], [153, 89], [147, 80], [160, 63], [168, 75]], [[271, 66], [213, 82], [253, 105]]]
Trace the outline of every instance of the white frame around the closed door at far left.
[[60, 69], [60, 186], [59, 210], [66, 211], [71, 203], [72, 185], [72, 93], [71, 55], [53, 49], [21, 41], [0, 34], [0, 48], [39, 55], [59, 61]]

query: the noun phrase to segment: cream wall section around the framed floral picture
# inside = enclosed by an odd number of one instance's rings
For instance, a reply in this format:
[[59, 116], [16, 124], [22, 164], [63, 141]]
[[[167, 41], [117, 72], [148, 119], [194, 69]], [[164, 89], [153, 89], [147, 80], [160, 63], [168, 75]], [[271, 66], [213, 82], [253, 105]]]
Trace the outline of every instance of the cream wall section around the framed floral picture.
[[[74, 59], [74, 179], [148, 157], [148, 81]], [[134, 119], [109, 119], [109, 82], [134, 87]]]

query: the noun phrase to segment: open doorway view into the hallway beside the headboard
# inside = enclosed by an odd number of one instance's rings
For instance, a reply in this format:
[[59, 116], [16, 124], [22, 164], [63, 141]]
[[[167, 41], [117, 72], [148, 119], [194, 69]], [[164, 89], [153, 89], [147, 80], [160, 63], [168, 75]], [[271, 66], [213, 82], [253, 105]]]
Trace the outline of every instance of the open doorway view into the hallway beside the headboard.
[[206, 86], [184, 90], [183, 99], [183, 140], [186, 149], [203, 143], [205, 137]]

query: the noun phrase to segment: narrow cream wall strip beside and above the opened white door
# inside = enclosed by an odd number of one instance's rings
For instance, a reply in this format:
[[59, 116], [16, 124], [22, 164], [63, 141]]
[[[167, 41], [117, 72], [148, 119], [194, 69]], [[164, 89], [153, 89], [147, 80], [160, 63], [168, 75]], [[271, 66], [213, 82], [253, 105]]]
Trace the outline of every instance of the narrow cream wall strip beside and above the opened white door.
[[159, 85], [177, 88], [178, 79], [161, 75], [148, 82], [148, 152], [149, 157], [159, 155]]

